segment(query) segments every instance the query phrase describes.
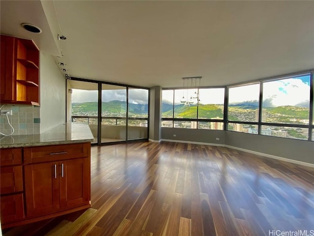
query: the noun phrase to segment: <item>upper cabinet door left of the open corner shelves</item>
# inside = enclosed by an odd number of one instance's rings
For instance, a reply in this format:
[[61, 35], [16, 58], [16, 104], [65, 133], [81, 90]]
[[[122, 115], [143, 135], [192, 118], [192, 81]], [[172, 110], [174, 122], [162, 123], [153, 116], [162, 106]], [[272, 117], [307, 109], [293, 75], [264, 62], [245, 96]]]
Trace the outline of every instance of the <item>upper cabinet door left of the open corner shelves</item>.
[[14, 100], [14, 40], [14, 37], [0, 36], [0, 101]]

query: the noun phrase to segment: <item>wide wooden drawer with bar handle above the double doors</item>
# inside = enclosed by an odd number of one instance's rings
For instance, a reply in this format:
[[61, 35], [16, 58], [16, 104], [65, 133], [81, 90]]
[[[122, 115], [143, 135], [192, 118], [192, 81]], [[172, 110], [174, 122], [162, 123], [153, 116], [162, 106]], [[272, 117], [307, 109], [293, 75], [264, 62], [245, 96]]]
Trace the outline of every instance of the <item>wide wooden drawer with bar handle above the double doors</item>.
[[24, 148], [24, 163], [40, 163], [88, 156], [86, 143]]

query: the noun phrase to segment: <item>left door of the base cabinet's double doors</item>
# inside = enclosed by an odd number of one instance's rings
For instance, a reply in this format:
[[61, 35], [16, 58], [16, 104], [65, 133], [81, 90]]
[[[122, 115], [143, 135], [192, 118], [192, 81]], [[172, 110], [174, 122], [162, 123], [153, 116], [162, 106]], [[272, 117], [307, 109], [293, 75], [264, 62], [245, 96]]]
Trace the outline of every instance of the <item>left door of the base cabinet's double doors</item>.
[[58, 162], [25, 166], [26, 215], [53, 213], [59, 207]]

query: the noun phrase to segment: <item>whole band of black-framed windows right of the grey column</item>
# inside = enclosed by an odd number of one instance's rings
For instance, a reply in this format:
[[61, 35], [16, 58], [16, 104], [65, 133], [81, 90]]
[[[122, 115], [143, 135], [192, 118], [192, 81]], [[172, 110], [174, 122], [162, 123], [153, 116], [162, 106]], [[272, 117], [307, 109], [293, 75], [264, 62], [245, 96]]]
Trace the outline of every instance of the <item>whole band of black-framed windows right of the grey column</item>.
[[[225, 88], [163, 90], [161, 125], [208, 130], [224, 130], [226, 125], [229, 131], [314, 141], [313, 75], [230, 87], [227, 109]], [[195, 92], [200, 96], [196, 101], [182, 103]]]

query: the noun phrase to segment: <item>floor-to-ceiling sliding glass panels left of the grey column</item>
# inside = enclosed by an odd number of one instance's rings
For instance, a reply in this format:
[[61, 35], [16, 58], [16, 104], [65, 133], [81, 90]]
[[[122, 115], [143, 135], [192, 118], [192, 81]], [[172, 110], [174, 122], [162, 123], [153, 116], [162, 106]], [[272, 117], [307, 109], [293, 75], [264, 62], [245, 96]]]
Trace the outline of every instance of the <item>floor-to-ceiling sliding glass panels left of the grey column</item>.
[[68, 89], [68, 120], [88, 123], [94, 144], [148, 139], [149, 89], [78, 78]]

